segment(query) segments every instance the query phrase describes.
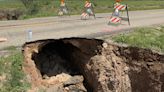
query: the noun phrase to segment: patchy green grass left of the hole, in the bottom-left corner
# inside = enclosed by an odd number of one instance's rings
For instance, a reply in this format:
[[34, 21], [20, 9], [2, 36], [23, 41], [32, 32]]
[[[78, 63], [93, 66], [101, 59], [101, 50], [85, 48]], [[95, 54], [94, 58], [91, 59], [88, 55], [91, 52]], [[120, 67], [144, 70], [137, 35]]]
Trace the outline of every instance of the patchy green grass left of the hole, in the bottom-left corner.
[[15, 51], [7, 57], [0, 57], [0, 92], [26, 92], [30, 88], [26, 75], [22, 71], [22, 62], [20, 51]]

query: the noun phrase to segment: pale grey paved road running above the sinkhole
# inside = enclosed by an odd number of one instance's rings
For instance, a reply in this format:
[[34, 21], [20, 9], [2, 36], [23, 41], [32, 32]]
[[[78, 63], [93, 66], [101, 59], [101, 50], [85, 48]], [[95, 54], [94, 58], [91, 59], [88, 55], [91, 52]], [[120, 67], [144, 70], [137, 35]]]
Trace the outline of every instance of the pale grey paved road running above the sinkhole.
[[[21, 46], [28, 41], [27, 31], [32, 30], [32, 40], [64, 37], [96, 37], [112, 32], [129, 30], [134, 27], [164, 24], [164, 9], [131, 11], [131, 25], [123, 21], [120, 26], [108, 25], [110, 13], [96, 14], [96, 19], [80, 20], [80, 15], [65, 17], [34, 18], [29, 20], [1, 21], [0, 37], [7, 42], [0, 43], [0, 48]], [[125, 15], [125, 14], [123, 14]]]

